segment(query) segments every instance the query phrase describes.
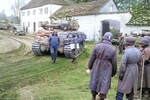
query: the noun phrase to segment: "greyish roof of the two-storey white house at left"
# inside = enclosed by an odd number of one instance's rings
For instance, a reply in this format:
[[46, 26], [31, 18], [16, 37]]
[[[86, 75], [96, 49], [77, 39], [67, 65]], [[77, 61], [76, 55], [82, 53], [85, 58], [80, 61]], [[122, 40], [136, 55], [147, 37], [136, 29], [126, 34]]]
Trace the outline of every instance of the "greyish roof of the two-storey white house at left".
[[31, 0], [28, 4], [21, 8], [21, 10], [40, 7], [47, 4], [56, 4], [56, 5], [70, 5], [76, 4], [73, 0]]

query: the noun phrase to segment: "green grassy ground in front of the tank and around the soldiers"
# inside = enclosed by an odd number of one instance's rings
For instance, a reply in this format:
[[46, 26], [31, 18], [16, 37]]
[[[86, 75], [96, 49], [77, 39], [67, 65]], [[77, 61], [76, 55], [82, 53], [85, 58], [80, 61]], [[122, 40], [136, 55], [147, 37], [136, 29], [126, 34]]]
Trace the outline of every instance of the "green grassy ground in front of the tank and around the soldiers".
[[[18, 62], [2, 59], [0, 99], [89, 100], [91, 98], [88, 89], [90, 75], [86, 73], [86, 68], [95, 45], [96, 43], [86, 42], [84, 52], [77, 57], [75, 64], [71, 63], [72, 59], [59, 55], [57, 64], [51, 63], [50, 56], [34, 56]], [[118, 46], [115, 47], [118, 50]], [[15, 50], [12, 53], [14, 52], [19, 51]], [[16, 58], [17, 56], [12, 59]], [[118, 67], [120, 60], [121, 55], [118, 55]], [[117, 82], [118, 71], [112, 78], [108, 93], [110, 100], [115, 100]]]

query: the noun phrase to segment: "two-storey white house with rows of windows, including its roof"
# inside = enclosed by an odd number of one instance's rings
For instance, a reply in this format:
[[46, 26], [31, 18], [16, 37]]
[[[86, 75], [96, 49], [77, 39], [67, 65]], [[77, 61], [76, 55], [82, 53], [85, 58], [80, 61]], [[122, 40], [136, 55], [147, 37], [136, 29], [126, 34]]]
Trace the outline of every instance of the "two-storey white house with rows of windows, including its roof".
[[41, 23], [50, 23], [50, 16], [62, 6], [75, 4], [71, 0], [31, 0], [21, 8], [21, 25], [28, 32], [37, 31]]

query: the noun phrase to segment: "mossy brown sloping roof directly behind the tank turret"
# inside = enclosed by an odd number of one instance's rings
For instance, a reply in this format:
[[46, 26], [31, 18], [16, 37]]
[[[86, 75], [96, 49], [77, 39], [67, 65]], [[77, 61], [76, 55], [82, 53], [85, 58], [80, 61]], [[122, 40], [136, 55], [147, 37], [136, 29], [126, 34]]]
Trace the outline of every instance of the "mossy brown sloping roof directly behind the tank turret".
[[98, 14], [100, 10], [110, 0], [98, 0], [87, 3], [80, 3], [75, 5], [63, 6], [57, 10], [51, 17], [65, 17], [65, 16], [81, 16], [81, 15], [93, 15]]

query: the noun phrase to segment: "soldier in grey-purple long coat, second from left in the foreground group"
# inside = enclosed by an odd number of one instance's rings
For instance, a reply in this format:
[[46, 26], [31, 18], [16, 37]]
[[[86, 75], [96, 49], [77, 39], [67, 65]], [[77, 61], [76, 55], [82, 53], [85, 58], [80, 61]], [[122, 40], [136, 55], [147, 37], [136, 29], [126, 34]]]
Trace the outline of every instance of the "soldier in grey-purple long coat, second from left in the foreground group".
[[133, 100], [134, 93], [138, 89], [138, 63], [141, 60], [141, 52], [134, 47], [136, 42], [134, 37], [126, 37], [125, 42], [126, 49], [120, 64], [116, 100], [123, 100], [124, 94], [128, 100]]

